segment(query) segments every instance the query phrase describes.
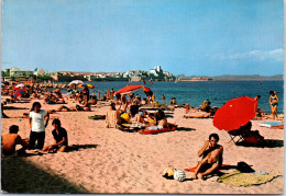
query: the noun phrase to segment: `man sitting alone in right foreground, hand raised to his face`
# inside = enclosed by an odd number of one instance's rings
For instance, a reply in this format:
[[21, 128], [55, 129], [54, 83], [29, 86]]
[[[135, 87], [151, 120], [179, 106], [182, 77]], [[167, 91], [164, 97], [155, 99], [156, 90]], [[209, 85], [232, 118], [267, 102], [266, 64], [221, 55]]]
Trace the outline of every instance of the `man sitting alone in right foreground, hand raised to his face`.
[[222, 165], [223, 147], [218, 145], [219, 136], [211, 134], [209, 140], [206, 140], [198, 157], [202, 157], [199, 161], [193, 178], [204, 180], [204, 176], [217, 171]]

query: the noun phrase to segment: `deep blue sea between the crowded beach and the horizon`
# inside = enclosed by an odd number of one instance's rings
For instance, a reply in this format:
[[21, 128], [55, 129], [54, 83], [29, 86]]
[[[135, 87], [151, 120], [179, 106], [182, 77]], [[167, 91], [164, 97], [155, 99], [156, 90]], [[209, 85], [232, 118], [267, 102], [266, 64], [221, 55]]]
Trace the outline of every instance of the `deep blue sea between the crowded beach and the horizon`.
[[[90, 82], [96, 88], [90, 89], [90, 93], [100, 92], [101, 96], [107, 92], [108, 88], [114, 91], [125, 87], [127, 84], [143, 84], [142, 82]], [[176, 97], [178, 104], [188, 103], [190, 106], [198, 107], [201, 103], [208, 99], [211, 101], [211, 106], [222, 106], [228, 100], [239, 96], [261, 95], [258, 106], [262, 111], [271, 113], [270, 91], [278, 91], [279, 97], [278, 113], [283, 113], [284, 107], [284, 82], [283, 81], [158, 81], [146, 82], [154, 95], [155, 100], [163, 103], [162, 95], [166, 97], [166, 103], [169, 103], [172, 97]], [[142, 90], [135, 91], [135, 94], [140, 94], [144, 97], [145, 94]]]

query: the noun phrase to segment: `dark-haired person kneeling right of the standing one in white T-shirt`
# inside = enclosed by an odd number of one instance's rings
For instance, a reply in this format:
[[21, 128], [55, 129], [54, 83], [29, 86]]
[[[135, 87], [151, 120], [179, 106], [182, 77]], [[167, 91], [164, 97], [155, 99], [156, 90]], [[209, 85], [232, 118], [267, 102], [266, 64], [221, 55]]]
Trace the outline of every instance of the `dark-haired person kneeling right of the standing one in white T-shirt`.
[[66, 129], [61, 126], [61, 120], [58, 118], [55, 118], [53, 120], [52, 125], [55, 128], [54, 130], [52, 130], [52, 135], [54, 137], [54, 143], [44, 147], [42, 151], [47, 151], [47, 152], [56, 152], [56, 151], [66, 152], [67, 151], [67, 145], [68, 145]]

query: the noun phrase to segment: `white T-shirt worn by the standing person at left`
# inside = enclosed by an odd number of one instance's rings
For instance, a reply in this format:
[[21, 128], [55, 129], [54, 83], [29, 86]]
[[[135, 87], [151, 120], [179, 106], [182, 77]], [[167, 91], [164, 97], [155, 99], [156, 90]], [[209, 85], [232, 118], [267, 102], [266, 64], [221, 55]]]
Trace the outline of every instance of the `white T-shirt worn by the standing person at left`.
[[32, 131], [42, 132], [45, 131], [45, 116], [46, 111], [40, 111], [38, 113], [30, 112], [30, 117], [32, 118]]

